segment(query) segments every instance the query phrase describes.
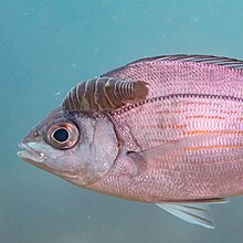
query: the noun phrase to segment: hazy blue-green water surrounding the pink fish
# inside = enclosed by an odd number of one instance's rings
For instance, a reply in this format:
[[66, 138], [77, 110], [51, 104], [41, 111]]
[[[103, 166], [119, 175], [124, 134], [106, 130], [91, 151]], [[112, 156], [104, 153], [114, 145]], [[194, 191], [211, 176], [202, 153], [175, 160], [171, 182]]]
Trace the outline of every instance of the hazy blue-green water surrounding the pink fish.
[[243, 60], [242, 9], [240, 0], [0, 0], [0, 243], [242, 242], [243, 198], [212, 207], [215, 230], [207, 230], [17, 157], [82, 80], [161, 54]]

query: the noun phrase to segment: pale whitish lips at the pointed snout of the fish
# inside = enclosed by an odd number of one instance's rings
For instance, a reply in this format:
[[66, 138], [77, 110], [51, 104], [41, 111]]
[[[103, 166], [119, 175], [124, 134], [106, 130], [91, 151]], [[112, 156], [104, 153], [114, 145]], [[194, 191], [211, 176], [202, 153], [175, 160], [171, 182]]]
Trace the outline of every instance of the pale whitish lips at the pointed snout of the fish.
[[43, 152], [36, 151], [35, 149], [31, 148], [30, 142], [20, 142], [18, 146], [22, 149], [21, 151], [18, 151], [18, 156], [23, 159], [27, 162], [30, 163], [40, 163], [43, 162], [45, 159], [45, 156]]

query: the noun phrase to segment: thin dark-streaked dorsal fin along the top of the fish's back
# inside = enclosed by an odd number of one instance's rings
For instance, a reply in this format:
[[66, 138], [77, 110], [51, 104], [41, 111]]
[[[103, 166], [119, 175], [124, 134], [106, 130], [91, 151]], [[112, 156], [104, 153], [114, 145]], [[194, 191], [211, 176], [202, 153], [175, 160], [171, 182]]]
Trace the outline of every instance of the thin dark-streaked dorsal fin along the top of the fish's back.
[[177, 54], [177, 55], [160, 55], [155, 57], [146, 57], [134, 61], [127, 65], [134, 65], [142, 62], [196, 62], [196, 63], [204, 63], [204, 64], [213, 64], [221, 65], [231, 68], [242, 70], [243, 61], [236, 59], [228, 59], [223, 56], [214, 56], [214, 55], [186, 55], [186, 54]]

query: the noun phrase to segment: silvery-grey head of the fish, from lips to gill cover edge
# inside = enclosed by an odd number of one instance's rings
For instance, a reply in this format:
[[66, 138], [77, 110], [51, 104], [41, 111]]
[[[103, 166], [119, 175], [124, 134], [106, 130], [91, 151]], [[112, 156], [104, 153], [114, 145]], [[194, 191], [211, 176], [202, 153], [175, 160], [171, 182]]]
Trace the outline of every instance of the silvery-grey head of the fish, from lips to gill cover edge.
[[72, 183], [88, 187], [110, 170], [118, 141], [105, 114], [56, 108], [21, 141], [18, 156]]

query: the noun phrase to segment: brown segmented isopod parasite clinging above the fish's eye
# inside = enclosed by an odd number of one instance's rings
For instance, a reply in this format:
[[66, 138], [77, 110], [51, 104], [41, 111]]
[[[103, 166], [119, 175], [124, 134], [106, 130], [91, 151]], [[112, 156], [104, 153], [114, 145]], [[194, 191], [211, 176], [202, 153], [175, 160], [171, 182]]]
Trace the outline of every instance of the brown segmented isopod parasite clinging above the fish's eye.
[[73, 87], [62, 107], [78, 112], [110, 112], [128, 103], [145, 99], [148, 94], [147, 83], [131, 82], [115, 77], [97, 77]]

